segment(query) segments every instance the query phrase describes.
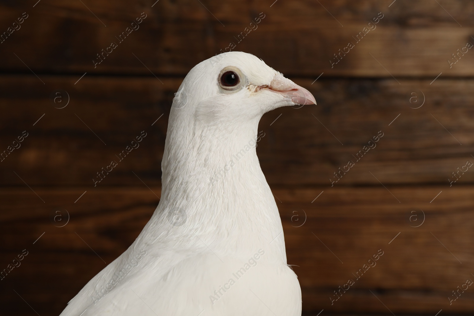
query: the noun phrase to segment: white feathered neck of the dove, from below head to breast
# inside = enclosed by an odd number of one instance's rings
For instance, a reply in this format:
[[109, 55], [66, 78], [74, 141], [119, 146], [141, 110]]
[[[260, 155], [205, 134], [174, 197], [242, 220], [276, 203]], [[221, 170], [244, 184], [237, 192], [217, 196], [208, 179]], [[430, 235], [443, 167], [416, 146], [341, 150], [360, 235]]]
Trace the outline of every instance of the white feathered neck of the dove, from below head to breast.
[[[197, 231], [237, 231], [268, 247], [282, 224], [256, 155], [265, 136], [257, 131], [259, 119], [224, 126], [195, 121], [179, 128], [170, 121], [162, 162], [163, 211], [181, 208]], [[271, 246], [286, 258], [283, 238]]]

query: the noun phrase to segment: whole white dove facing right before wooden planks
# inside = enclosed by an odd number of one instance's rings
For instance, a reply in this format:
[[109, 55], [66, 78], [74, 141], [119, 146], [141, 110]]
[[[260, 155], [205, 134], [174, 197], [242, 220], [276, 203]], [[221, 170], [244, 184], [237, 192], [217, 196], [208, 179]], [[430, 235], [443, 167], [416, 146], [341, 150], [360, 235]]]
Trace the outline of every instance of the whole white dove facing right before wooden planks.
[[155, 213], [61, 316], [301, 316], [255, 152], [262, 115], [297, 104], [316, 101], [254, 55], [193, 67], [173, 99]]

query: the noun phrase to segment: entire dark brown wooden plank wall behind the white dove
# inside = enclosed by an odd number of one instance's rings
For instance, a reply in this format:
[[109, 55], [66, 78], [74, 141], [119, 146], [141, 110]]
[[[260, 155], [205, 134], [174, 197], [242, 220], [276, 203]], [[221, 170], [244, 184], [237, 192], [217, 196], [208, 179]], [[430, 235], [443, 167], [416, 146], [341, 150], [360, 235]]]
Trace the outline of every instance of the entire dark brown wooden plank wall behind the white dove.
[[[158, 204], [173, 93], [260, 12], [235, 50], [318, 103], [265, 114], [257, 148], [303, 315], [473, 314], [473, 287], [448, 297], [474, 280], [474, 170], [451, 187], [448, 178], [474, 162], [474, 50], [447, 62], [474, 44], [473, 1], [3, 0], [0, 31], [23, 12], [0, 44], [0, 150], [28, 133], [0, 163], [0, 270], [28, 254], [0, 280], [0, 315], [58, 315], [134, 241]], [[139, 29], [94, 68], [142, 12]], [[376, 29], [331, 68], [379, 12]], [[58, 89], [67, 95], [55, 103]], [[140, 147], [94, 187], [142, 130]], [[379, 249], [377, 265], [331, 305]]]

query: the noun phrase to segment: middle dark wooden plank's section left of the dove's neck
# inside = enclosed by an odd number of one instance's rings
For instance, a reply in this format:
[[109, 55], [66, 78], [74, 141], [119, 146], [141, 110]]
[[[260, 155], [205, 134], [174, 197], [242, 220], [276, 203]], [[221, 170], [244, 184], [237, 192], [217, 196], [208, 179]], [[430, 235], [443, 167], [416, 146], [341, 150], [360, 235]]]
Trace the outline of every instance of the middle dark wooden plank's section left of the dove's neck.
[[[102, 185], [120, 182], [141, 185], [133, 172], [141, 177], [144, 170], [148, 179], [159, 183], [169, 108], [181, 79], [168, 80], [166, 85], [155, 78], [152, 81], [149, 78], [106, 79], [112, 80], [112, 85], [94, 77], [83, 78], [74, 85], [74, 79], [78, 78], [45, 77], [46, 88], [43, 85], [35, 87], [36, 77], [27, 80], [18, 77], [10, 83], [4, 81], [5, 103], [2, 102], [2, 105], [5, 104], [4, 109], [9, 115], [2, 117], [6, 132], [2, 148], [7, 149], [24, 130], [29, 133], [21, 147], [2, 161], [4, 167], [11, 168], [9, 176], [17, 177], [13, 173], [15, 171], [31, 185], [77, 185], [82, 182], [93, 187], [92, 177], [111, 160], [117, 160], [124, 169], [117, 168]], [[18, 87], [22, 86], [32, 89], [17, 93], [18, 89], [23, 89]], [[50, 94], [58, 88], [67, 90], [70, 98], [69, 104], [62, 109], [57, 107], [65, 105], [65, 93], [63, 103], [57, 99], [58, 103], [54, 104], [50, 98]], [[143, 99], [138, 98], [140, 95]], [[13, 110], [17, 107], [22, 110]], [[142, 131], [145, 131], [146, 137], [139, 147], [120, 162], [116, 155], [136, 140]], [[44, 164], [46, 162], [49, 166]], [[142, 166], [146, 166], [145, 169]], [[23, 183], [19, 177], [15, 182]], [[118, 182], [114, 177], [118, 177]], [[9, 182], [6, 178], [2, 180], [3, 183]]]

